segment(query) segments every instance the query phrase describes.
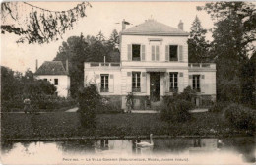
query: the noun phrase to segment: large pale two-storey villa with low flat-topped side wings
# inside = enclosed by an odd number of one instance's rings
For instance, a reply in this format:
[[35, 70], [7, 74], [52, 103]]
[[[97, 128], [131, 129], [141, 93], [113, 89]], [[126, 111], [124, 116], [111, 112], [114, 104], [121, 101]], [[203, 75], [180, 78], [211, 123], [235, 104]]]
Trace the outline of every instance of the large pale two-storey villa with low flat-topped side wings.
[[126, 108], [133, 92], [134, 109], [154, 108], [163, 96], [187, 86], [197, 91], [194, 102], [204, 106], [216, 99], [215, 64], [188, 63], [188, 33], [154, 20], [123, 29], [120, 63], [85, 63], [85, 83], [95, 82], [101, 95]]

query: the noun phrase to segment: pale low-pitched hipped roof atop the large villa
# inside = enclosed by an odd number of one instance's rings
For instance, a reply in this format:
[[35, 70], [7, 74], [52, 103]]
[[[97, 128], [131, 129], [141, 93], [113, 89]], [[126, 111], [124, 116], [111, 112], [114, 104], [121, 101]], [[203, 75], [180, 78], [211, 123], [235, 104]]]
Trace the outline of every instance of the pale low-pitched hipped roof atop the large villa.
[[124, 29], [122, 35], [177, 35], [188, 36], [189, 33], [178, 28], [172, 28], [167, 25], [161, 24], [155, 20], [146, 20], [143, 24], [137, 25], [132, 28]]

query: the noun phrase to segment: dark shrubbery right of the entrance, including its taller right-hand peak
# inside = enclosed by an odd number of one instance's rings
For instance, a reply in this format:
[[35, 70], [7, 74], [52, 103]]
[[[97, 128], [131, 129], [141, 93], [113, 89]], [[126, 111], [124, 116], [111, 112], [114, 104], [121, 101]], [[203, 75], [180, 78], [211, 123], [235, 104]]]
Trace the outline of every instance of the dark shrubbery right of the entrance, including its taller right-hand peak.
[[185, 122], [191, 118], [189, 110], [194, 108], [191, 102], [193, 90], [187, 87], [180, 94], [163, 97], [160, 106], [160, 116], [163, 121]]

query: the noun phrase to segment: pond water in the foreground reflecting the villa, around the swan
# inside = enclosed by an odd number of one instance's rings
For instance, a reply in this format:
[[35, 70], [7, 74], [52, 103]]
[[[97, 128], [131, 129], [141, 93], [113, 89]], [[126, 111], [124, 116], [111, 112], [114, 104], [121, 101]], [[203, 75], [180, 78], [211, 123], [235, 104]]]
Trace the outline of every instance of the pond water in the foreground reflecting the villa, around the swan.
[[[150, 140], [141, 140], [150, 142]], [[4, 164], [255, 164], [253, 137], [2, 142]]]

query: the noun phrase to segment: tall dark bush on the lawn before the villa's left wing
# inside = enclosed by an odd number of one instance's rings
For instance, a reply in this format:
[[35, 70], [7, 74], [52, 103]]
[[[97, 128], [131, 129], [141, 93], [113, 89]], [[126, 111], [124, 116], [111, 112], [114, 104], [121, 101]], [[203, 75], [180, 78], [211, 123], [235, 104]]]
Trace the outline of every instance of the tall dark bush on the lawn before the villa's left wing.
[[96, 85], [89, 84], [79, 90], [78, 94], [80, 121], [83, 127], [96, 127], [96, 107], [101, 96]]

